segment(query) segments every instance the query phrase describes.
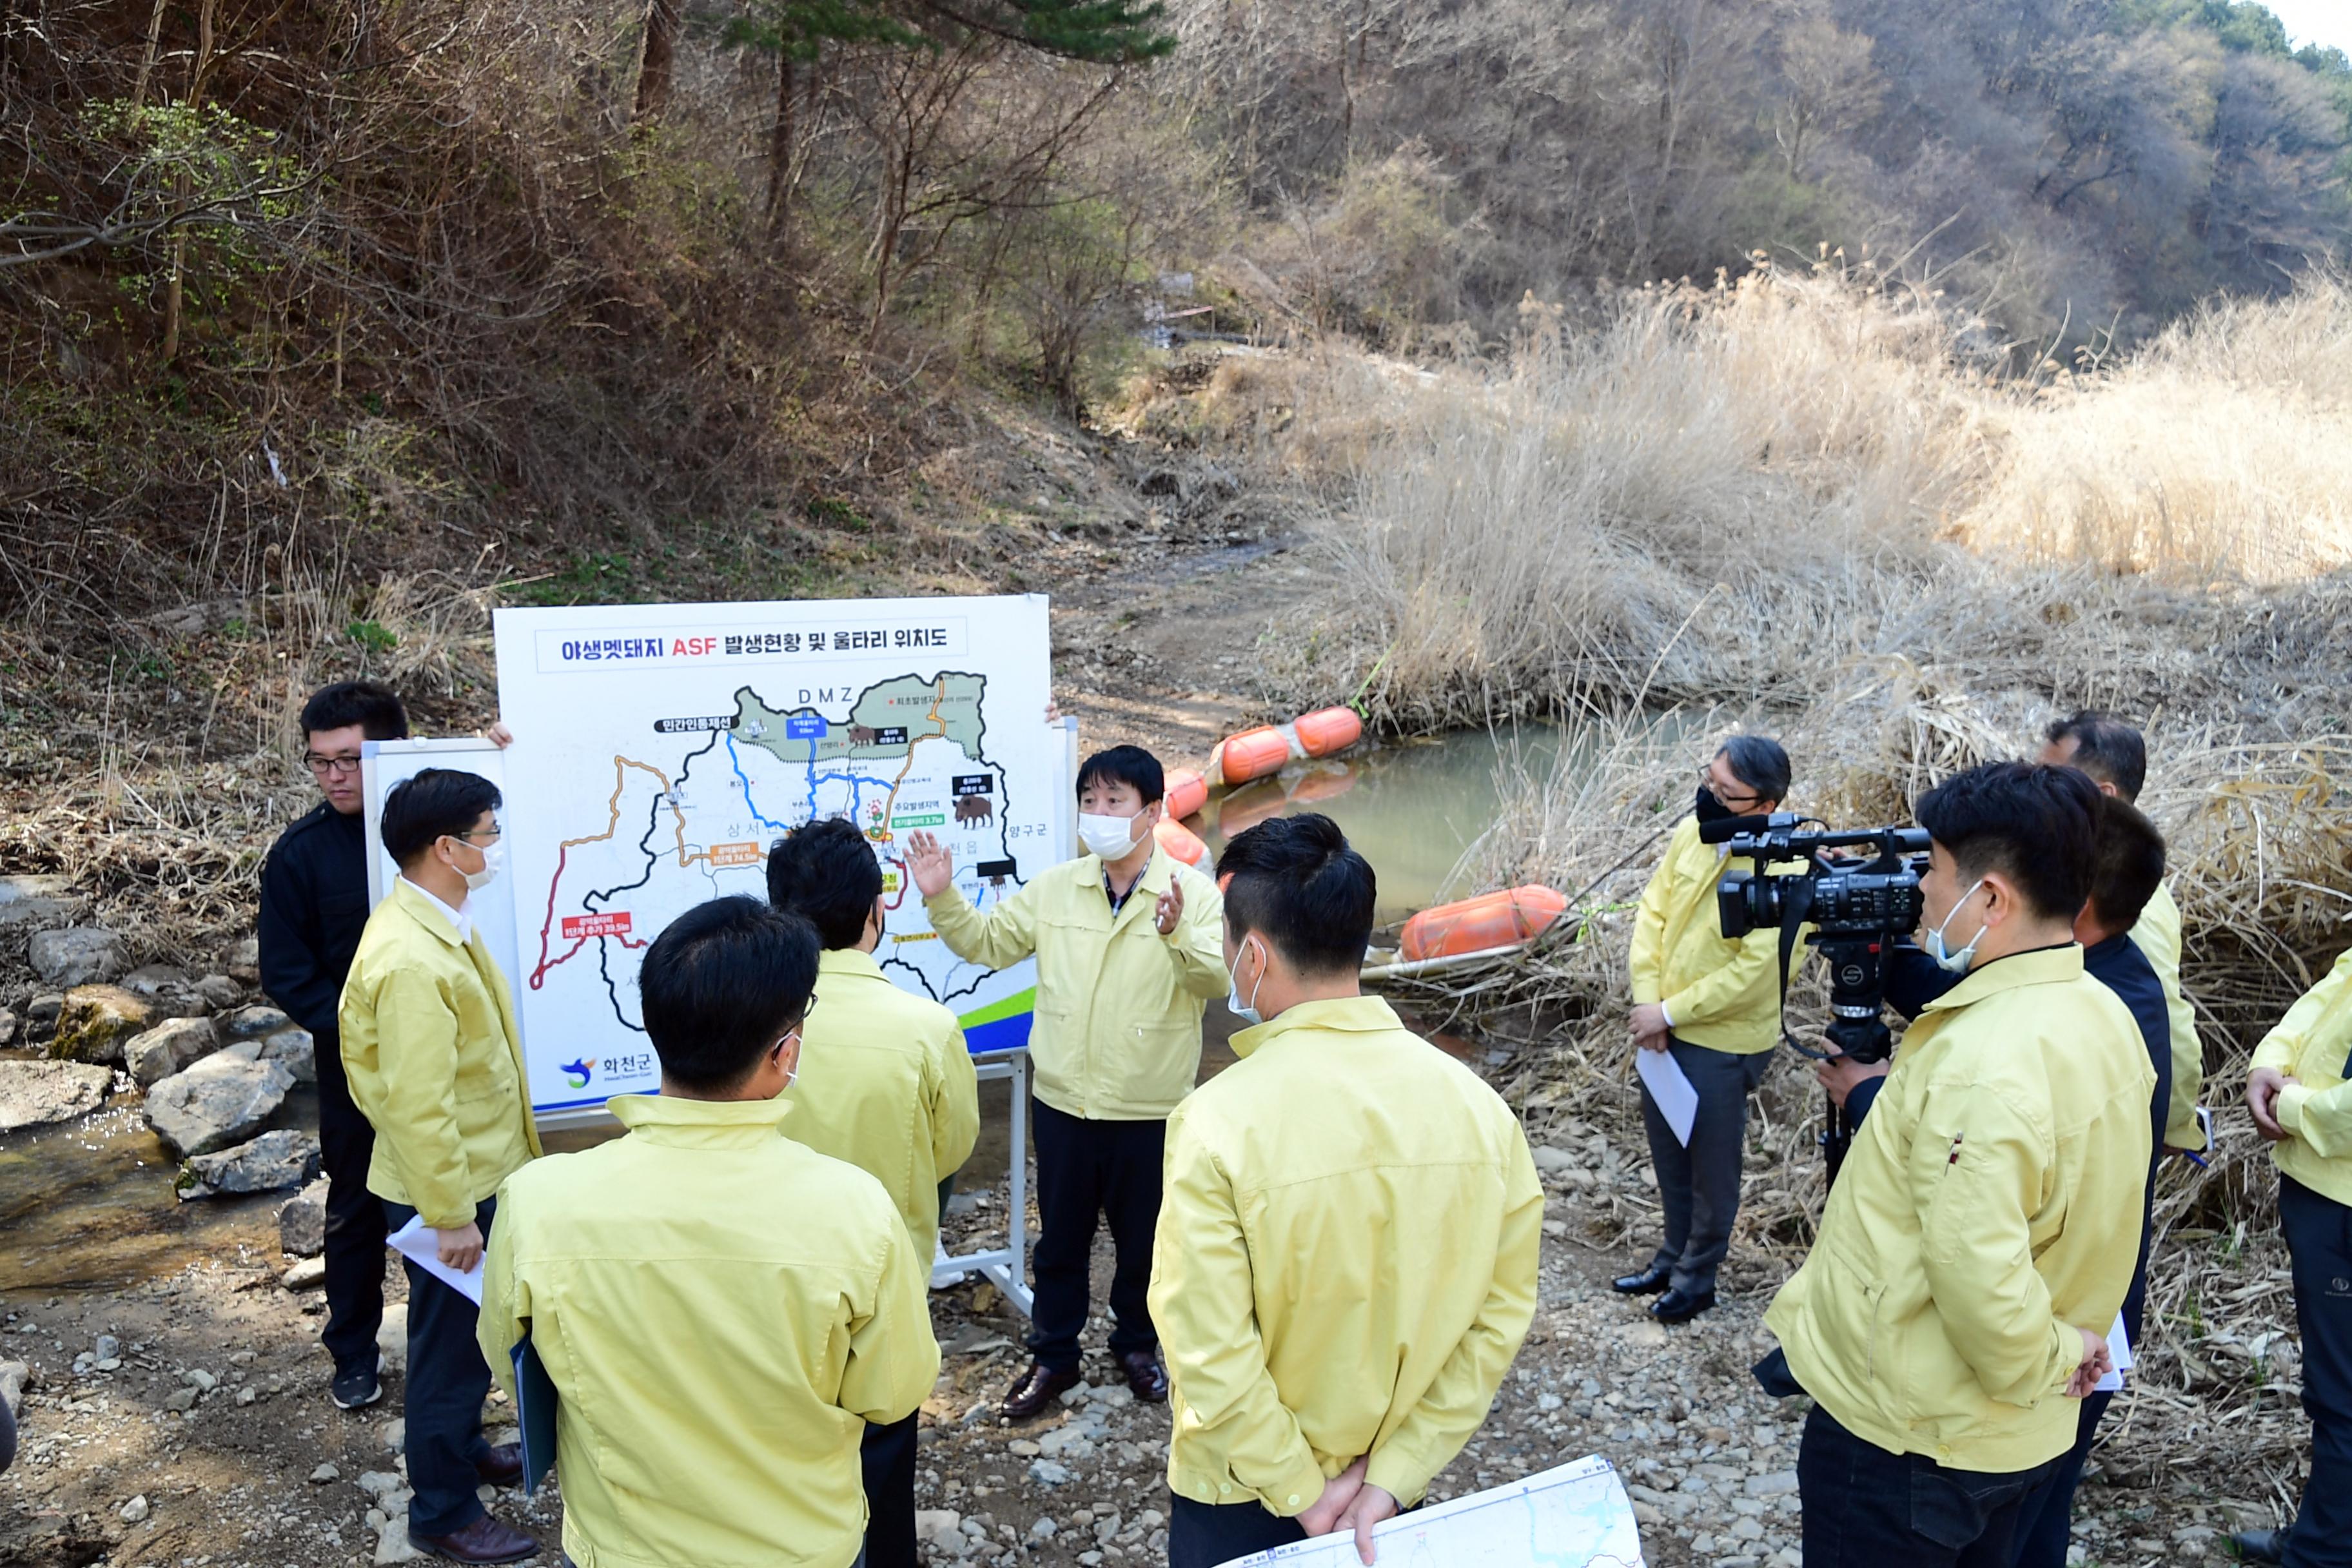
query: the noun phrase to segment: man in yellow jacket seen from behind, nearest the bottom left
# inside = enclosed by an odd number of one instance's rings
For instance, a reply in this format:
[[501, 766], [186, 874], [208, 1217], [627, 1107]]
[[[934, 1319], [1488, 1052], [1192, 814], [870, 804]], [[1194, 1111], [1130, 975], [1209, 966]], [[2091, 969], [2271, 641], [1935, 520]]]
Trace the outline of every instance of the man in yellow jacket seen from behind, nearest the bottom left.
[[524, 1335], [555, 1385], [579, 1568], [849, 1568], [858, 1441], [938, 1378], [929, 1255], [866, 1171], [783, 1135], [816, 933], [713, 898], [644, 952], [659, 1095], [628, 1138], [506, 1182], [482, 1354]]

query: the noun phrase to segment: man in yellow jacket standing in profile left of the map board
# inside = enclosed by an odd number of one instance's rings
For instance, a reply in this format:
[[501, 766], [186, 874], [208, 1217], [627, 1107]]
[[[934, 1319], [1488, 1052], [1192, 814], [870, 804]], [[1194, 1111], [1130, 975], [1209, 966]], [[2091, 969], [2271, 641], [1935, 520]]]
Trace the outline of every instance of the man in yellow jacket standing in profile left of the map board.
[[[376, 1128], [367, 1190], [390, 1229], [435, 1229], [440, 1260], [461, 1272], [482, 1260], [499, 1182], [539, 1154], [515, 1001], [466, 905], [499, 875], [496, 809], [496, 785], [454, 769], [423, 769], [383, 797], [383, 849], [400, 877], [367, 917], [339, 1009], [350, 1098]], [[409, 1542], [454, 1563], [532, 1556], [539, 1542], [475, 1495], [522, 1476], [513, 1443], [482, 1441], [489, 1368], [475, 1305], [416, 1262], [407, 1269]]]

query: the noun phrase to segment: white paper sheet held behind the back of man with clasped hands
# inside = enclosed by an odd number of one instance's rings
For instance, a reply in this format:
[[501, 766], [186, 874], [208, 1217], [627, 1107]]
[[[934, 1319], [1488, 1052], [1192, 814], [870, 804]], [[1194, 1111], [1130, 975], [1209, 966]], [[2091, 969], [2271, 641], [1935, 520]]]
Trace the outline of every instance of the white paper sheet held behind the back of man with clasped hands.
[[[1644, 1056], [1653, 1056], [1644, 1051]], [[1383, 1568], [1642, 1568], [1642, 1535], [1616, 1465], [1599, 1455], [1545, 1469], [1374, 1528]], [[1355, 1530], [1242, 1556], [1225, 1568], [1364, 1568]]]

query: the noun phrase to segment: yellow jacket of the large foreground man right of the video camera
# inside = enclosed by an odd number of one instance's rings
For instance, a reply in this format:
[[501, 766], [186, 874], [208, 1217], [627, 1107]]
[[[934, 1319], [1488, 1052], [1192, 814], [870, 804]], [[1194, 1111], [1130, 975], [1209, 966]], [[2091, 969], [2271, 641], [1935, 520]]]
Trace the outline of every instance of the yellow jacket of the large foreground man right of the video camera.
[[2082, 947], [1926, 1006], [1764, 1326], [1856, 1436], [2011, 1474], [2074, 1443], [2082, 1335], [2131, 1286], [2157, 1072]]

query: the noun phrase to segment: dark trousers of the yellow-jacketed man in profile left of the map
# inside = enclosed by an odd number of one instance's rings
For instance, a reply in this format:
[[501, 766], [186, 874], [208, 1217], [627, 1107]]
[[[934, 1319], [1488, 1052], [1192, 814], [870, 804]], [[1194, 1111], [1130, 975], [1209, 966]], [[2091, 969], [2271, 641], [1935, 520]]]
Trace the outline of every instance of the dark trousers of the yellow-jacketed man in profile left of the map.
[[[499, 1199], [475, 1204], [473, 1222], [489, 1239]], [[416, 1211], [407, 1204], [383, 1204], [383, 1218], [400, 1229]], [[409, 1272], [409, 1375], [407, 1375], [407, 1455], [409, 1533], [449, 1535], [482, 1516], [473, 1488], [482, 1483], [475, 1465], [489, 1458], [482, 1436], [482, 1399], [489, 1396], [489, 1363], [473, 1338], [482, 1316], [466, 1295], [402, 1260]]]

